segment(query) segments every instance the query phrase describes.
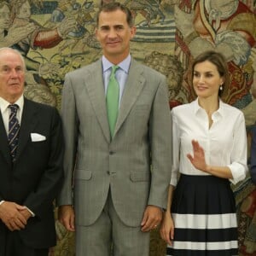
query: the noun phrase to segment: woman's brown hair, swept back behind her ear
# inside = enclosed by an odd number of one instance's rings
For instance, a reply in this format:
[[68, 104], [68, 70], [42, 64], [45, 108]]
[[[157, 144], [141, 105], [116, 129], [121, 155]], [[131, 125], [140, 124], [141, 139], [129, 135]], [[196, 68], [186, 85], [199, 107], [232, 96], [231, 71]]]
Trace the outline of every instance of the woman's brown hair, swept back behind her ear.
[[227, 87], [230, 84], [230, 73], [224, 55], [214, 50], [208, 50], [201, 53], [201, 55], [198, 55], [192, 64], [192, 80], [195, 65], [204, 61], [210, 61], [214, 66], [216, 66], [220, 77], [224, 79], [224, 84], [222, 84], [223, 90], [218, 90], [218, 96], [222, 96], [224, 94], [224, 90], [227, 90]]

